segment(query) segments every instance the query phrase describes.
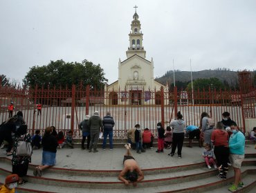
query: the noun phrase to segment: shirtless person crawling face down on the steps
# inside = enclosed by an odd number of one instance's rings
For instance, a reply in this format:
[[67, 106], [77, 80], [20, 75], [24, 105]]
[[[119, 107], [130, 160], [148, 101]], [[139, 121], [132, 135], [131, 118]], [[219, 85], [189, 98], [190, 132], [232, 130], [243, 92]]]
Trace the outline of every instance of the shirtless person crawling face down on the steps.
[[125, 185], [129, 185], [129, 183], [132, 183], [135, 187], [138, 185], [138, 182], [144, 179], [144, 174], [140, 170], [140, 167], [135, 161], [134, 156], [131, 155], [131, 144], [126, 144], [125, 148], [127, 149], [127, 152], [122, 162], [124, 164], [124, 168], [122, 169], [122, 172], [120, 172], [118, 179], [120, 181], [123, 181]]

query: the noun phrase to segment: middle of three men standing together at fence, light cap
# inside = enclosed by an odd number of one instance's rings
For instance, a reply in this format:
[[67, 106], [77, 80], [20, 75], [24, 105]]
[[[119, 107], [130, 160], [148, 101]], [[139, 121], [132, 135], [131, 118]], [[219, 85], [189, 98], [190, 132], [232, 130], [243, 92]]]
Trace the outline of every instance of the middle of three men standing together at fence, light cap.
[[99, 141], [99, 134], [103, 128], [102, 119], [100, 118], [98, 111], [95, 111], [93, 116], [90, 117], [88, 121], [88, 125], [90, 128], [90, 134], [91, 134], [89, 152], [91, 152], [91, 149], [93, 148], [93, 152], [95, 153], [95, 152], [98, 152], [97, 145]]

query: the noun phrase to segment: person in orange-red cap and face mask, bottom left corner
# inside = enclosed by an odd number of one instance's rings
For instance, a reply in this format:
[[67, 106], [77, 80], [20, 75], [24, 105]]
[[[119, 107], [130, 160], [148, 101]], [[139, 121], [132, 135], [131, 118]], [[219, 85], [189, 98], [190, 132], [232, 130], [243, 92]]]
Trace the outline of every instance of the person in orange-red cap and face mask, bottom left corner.
[[0, 186], [0, 193], [15, 193], [18, 181], [19, 176], [17, 174], [6, 176], [6, 182]]

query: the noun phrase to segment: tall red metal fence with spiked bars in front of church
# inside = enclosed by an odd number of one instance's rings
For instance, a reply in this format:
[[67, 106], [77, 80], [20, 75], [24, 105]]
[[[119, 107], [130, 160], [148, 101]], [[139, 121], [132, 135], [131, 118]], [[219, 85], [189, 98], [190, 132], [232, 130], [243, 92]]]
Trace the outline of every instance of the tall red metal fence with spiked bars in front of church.
[[[156, 135], [156, 124], [165, 126], [175, 114], [181, 111], [187, 125], [200, 125], [202, 112], [208, 112], [216, 121], [221, 121], [224, 111], [244, 129], [245, 118], [255, 118], [256, 92], [247, 94], [231, 90], [133, 90], [133, 94], [124, 90], [90, 90], [80, 85], [72, 88], [0, 88], [0, 121], [8, 119], [8, 104], [13, 101], [15, 112], [21, 110], [30, 133], [44, 130], [54, 125], [57, 131], [73, 130], [74, 137], [80, 139], [78, 124], [86, 114], [95, 110], [101, 117], [107, 112], [115, 119], [114, 136], [125, 137], [126, 131], [136, 123], [142, 129], [149, 128]], [[136, 99], [134, 98], [136, 96]], [[147, 101], [145, 105], [143, 101]], [[42, 113], [37, 104], [42, 104]], [[109, 105], [111, 103], [111, 105]], [[15, 113], [14, 112], [14, 113]], [[42, 132], [41, 132], [42, 133]]]

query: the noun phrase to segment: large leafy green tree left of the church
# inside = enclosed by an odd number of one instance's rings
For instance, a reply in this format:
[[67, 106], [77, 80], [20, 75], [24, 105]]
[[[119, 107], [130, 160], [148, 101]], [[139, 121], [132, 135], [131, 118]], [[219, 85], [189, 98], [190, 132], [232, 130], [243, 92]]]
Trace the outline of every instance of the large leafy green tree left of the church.
[[35, 85], [44, 88], [67, 85], [71, 88], [71, 85], [80, 85], [82, 81], [83, 85], [91, 85], [91, 88], [99, 89], [108, 80], [104, 77], [100, 64], [94, 65], [85, 59], [82, 63], [66, 63], [63, 60], [57, 60], [51, 61], [48, 65], [33, 66], [23, 81], [30, 88], [35, 88]]

